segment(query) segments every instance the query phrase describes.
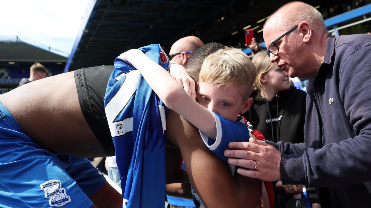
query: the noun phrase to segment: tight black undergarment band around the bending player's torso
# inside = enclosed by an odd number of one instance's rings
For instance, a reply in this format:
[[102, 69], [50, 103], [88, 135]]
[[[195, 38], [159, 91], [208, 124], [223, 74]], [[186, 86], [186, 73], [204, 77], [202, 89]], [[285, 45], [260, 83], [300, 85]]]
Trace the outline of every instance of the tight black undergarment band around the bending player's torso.
[[115, 155], [115, 147], [104, 111], [104, 95], [114, 66], [82, 68], [74, 71], [82, 114], [107, 154]]

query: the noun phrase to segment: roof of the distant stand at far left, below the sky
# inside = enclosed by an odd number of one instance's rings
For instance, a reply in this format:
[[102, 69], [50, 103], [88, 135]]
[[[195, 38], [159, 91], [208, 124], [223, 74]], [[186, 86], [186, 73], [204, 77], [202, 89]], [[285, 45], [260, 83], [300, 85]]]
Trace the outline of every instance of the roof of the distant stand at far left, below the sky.
[[0, 62], [67, 62], [68, 54], [18, 36], [0, 36]]

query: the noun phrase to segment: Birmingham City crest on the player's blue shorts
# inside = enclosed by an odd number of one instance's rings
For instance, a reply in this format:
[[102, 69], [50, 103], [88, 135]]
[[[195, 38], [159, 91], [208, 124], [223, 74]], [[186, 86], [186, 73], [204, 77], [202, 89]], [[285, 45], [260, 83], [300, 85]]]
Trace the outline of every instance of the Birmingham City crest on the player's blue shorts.
[[40, 189], [45, 191], [45, 197], [49, 198], [50, 207], [62, 207], [71, 201], [66, 190], [62, 188], [62, 182], [59, 180], [50, 180], [40, 184]]

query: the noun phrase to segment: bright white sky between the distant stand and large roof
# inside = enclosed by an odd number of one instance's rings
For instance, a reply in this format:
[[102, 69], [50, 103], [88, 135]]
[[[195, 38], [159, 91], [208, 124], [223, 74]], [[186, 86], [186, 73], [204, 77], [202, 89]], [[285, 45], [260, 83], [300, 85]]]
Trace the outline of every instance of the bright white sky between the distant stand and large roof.
[[0, 36], [22, 37], [71, 53], [91, 0], [1, 0]]

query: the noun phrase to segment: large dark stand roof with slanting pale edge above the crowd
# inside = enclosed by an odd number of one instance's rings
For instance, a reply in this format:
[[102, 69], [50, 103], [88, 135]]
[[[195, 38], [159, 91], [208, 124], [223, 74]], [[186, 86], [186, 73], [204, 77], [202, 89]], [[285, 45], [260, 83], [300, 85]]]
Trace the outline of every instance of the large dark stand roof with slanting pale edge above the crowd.
[[289, 1], [91, 0], [65, 72], [112, 65], [122, 52], [153, 43], [168, 52], [176, 40], [188, 35], [205, 43], [244, 47], [244, 29], [260, 33], [266, 17]]

